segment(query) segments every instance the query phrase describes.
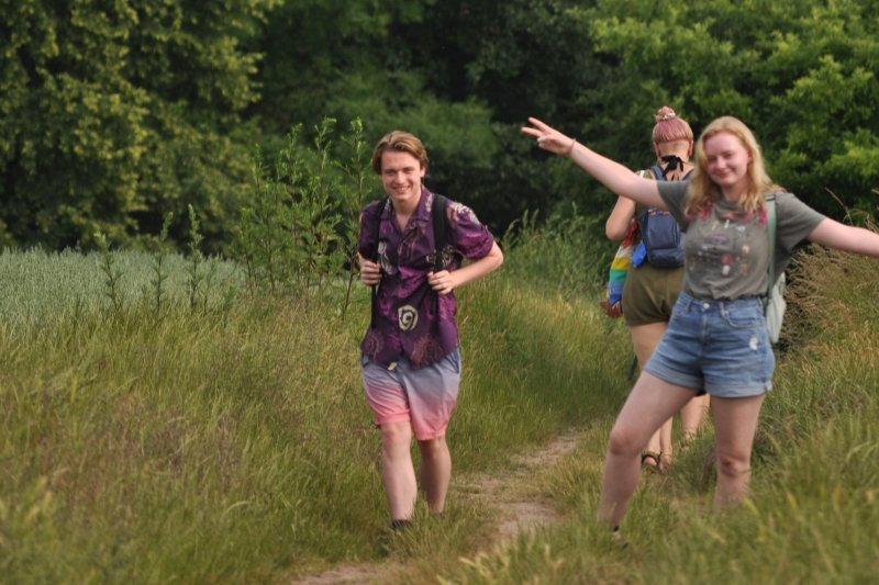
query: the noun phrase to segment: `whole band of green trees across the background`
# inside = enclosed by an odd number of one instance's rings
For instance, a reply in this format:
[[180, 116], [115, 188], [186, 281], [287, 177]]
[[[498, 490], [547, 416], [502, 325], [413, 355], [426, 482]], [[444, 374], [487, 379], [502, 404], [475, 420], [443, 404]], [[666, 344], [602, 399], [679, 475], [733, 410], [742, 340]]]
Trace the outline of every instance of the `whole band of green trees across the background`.
[[[302, 124], [403, 128], [427, 184], [496, 233], [613, 198], [519, 132], [537, 115], [632, 168], [661, 105], [743, 119], [778, 182], [875, 213], [879, 4], [857, 0], [0, 0], [0, 245], [157, 236], [223, 250], [254, 147]], [[337, 148], [338, 145], [332, 145]], [[331, 153], [344, 158], [344, 153]], [[830, 194], [833, 193], [833, 195]], [[376, 193], [378, 195], [378, 193]], [[600, 225], [600, 222], [588, 225]]]

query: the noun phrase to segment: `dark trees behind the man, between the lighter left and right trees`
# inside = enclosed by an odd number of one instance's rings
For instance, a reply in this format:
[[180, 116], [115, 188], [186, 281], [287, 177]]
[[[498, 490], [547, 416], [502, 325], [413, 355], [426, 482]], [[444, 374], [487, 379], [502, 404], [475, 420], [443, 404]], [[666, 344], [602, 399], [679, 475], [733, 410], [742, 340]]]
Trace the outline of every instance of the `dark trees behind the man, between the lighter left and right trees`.
[[569, 121], [578, 88], [600, 76], [564, 12], [578, 4], [286, 2], [259, 45], [265, 91], [252, 111], [274, 132], [323, 114], [363, 119], [370, 143], [411, 131], [431, 155], [427, 184], [503, 232], [560, 199], [519, 126], [534, 112]]

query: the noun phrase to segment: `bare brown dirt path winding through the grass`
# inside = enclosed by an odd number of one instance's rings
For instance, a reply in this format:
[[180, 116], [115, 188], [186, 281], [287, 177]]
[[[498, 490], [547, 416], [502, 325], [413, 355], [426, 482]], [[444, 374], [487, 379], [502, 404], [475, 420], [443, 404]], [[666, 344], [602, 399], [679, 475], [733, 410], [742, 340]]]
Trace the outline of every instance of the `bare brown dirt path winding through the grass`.
[[[452, 491], [460, 497], [474, 498], [479, 506], [490, 508], [496, 519], [494, 542], [510, 540], [523, 531], [547, 526], [558, 519], [556, 511], [534, 498], [528, 486], [534, 477], [570, 453], [582, 438], [581, 431], [567, 431], [537, 451], [513, 458], [512, 469], [496, 473], [475, 473], [453, 476]], [[380, 583], [383, 576], [400, 574], [405, 567], [393, 561], [382, 563], [343, 564], [319, 575], [308, 575], [294, 585], [355, 585]]]

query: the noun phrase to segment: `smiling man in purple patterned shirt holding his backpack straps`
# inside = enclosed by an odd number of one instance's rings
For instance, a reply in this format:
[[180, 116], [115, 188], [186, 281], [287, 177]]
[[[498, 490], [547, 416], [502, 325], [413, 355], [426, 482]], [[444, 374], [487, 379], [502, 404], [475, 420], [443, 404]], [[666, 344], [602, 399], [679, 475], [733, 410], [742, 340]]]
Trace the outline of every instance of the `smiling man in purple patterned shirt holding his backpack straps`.
[[360, 342], [363, 383], [381, 430], [381, 480], [394, 529], [411, 520], [419, 482], [429, 508], [444, 509], [452, 477], [445, 432], [460, 383], [454, 291], [503, 262], [472, 211], [424, 187], [427, 162], [424, 145], [408, 132], [378, 142], [371, 164], [387, 198], [364, 207], [357, 243], [360, 280], [374, 288]]

